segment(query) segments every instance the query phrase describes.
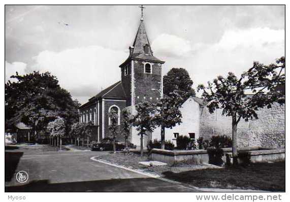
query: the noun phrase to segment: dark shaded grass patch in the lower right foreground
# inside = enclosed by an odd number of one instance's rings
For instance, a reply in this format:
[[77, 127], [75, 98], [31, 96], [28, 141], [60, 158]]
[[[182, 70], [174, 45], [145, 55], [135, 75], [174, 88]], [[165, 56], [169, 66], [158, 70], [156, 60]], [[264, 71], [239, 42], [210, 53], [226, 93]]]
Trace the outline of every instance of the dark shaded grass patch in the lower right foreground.
[[163, 174], [168, 179], [198, 187], [285, 191], [285, 161]]

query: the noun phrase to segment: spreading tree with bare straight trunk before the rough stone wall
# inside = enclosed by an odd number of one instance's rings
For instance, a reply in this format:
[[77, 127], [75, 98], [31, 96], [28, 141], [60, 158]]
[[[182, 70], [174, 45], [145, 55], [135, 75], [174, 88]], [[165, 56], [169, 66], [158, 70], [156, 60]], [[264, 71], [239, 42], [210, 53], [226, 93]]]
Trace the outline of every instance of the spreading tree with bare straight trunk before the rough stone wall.
[[[285, 103], [285, 94], [278, 86], [285, 85], [285, 57], [276, 63], [264, 65], [253, 62], [252, 68], [237, 78], [229, 73], [226, 78], [218, 76], [208, 86], [198, 86], [202, 90], [202, 98], [208, 103], [210, 113], [222, 109], [222, 115], [232, 116], [233, 164], [238, 164], [237, 125], [243, 118], [245, 121], [258, 119], [256, 110], [271, 108], [274, 102]], [[247, 95], [246, 93], [250, 93]]]

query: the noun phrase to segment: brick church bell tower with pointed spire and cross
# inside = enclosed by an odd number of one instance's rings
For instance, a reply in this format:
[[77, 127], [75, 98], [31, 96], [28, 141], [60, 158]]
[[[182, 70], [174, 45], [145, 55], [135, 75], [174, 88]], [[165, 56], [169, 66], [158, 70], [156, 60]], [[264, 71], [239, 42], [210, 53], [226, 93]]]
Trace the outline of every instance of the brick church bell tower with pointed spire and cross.
[[128, 58], [119, 66], [122, 85], [126, 94], [126, 105], [135, 106], [140, 102], [156, 103], [163, 97], [163, 64], [153, 55], [143, 20], [141, 20]]

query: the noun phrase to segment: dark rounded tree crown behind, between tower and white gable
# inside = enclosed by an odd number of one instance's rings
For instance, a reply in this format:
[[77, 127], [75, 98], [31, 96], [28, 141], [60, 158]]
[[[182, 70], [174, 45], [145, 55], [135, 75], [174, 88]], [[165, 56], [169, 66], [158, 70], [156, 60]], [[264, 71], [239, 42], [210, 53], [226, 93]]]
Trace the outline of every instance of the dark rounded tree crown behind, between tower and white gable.
[[189, 96], [196, 94], [195, 90], [192, 89], [193, 83], [185, 69], [172, 68], [163, 77], [163, 92], [170, 96], [171, 93], [178, 90], [181, 97], [186, 100]]

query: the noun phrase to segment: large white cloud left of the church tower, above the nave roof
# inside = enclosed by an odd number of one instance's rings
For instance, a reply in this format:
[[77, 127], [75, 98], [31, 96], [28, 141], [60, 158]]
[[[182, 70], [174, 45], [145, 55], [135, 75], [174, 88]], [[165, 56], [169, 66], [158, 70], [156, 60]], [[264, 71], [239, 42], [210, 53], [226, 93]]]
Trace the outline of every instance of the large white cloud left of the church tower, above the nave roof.
[[49, 71], [80, 102], [98, 93], [102, 88], [120, 80], [119, 65], [127, 58], [125, 51], [101, 46], [66, 49], [60, 52], [42, 51], [33, 59], [32, 69]]

